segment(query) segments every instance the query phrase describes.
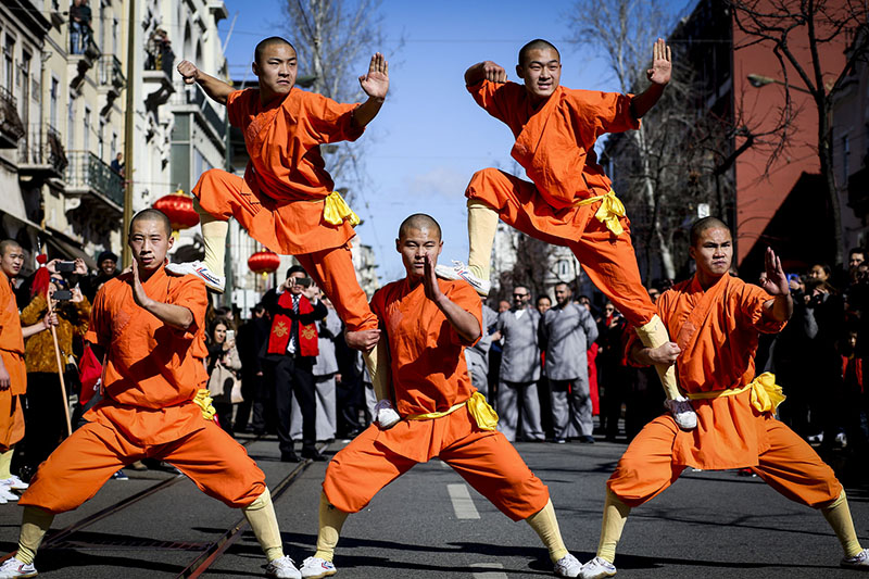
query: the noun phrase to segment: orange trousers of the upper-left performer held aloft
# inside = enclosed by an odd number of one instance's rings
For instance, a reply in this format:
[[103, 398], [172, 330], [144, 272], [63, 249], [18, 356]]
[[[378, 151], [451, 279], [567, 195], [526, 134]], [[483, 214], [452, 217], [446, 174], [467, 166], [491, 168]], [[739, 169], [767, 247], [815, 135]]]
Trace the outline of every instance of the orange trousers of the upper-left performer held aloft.
[[279, 204], [257, 196], [238, 175], [221, 169], [203, 173], [193, 194], [215, 218], [235, 217], [268, 249], [294, 255], [329, 297], [349, 331], [377, 328], [377, 316], [368, 306], [353, 267], [348, 244], [353, 228], [347, 222], [340, 227], [320, 224], [322, 199]]

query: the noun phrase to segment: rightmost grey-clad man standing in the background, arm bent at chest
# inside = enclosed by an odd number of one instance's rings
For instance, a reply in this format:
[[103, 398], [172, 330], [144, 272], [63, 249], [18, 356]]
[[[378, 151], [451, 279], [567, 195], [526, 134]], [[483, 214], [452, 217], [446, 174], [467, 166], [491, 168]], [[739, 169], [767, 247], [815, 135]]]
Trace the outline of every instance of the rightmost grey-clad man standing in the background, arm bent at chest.
[[574, 303], [567, 284], [555, 286], [555, 301], [540, 323], [539, 336], [546, 352], [555, 442], [594, 442], [585, 350], [597, 339], [597, 325], [585, 307]]

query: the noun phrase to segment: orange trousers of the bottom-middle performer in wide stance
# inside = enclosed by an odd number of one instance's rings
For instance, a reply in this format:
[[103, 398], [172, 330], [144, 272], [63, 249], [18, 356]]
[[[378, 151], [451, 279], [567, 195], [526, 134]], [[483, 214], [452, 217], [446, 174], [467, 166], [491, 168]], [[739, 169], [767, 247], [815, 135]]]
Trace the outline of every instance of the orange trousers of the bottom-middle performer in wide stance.
[[[466, 412], [437, 419], [451, 421], [440, 441], [440, 460], [502, 513], [522, 520], [546, 506], [549, 489], [504, 435], [470, 426]], [[329, 463], [323, 490], [329, 503], [344, 513], [362, 511], [380, 489], [417, 464], [378, 443], [379, 435], [377, 426], [369, 426]]]

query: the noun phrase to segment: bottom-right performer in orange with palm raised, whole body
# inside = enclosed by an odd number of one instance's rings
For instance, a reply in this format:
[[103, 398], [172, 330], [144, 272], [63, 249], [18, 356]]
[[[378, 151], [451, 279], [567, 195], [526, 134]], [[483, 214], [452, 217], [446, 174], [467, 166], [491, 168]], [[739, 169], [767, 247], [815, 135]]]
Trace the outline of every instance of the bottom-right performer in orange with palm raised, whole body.
[[784, 400], [774, 376], [755, 377], [758, 336], [780, 331], [793, 312], [781, 262], [767, 250], [763, 289], [729, 275], [730, 230], [706, 217], [691, 229], [697, 273], [664, 292], [657, 306], [676, 342], [658, 348], [629, 342], [641, 365], [672, 364], [697, 413], [697, 428], [680, 430], [662, 415], [633, 439], [607, 482], [597, 556], [585, 579], [616, 574], [613, 561], [631, 507], [672, 484], [685, 467], [748, 467], [784, 496], [819, 508], [845, 551], [842, 565], [869, 570], [869, 552], [857, 541], [845, 492], [832, 469], [774, 417]]

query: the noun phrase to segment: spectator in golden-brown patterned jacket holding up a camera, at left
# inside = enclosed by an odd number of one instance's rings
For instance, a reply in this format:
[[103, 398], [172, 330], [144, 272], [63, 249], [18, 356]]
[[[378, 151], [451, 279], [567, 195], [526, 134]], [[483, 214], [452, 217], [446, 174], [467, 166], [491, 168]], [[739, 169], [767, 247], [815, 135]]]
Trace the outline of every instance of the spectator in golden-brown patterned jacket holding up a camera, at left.
[[[77, 376], [73, 342], [83, 337], [88, 329], [90, 302], [75, 284], [76, 276], [87, 274], [84, 260], [62, 262], [53, 260], [47, 264], [50, 274], [46, 291], [32, 287], [34, 297], [21, 313], [25, 326], [39, 323], [51, 310], [56, 314], [58, 348], [64, 377], [72, 385]], [[25, 363], [27, 366], [27, 432], [22, 473], [25, 478], [32, 475], [42, 461], [58, 448], [66, 436], [66, 418], [63, 405], [66, 401], [61, 394], [61, 382], [54, 342], [50, 332], [36, 333], [25, 342]]]

